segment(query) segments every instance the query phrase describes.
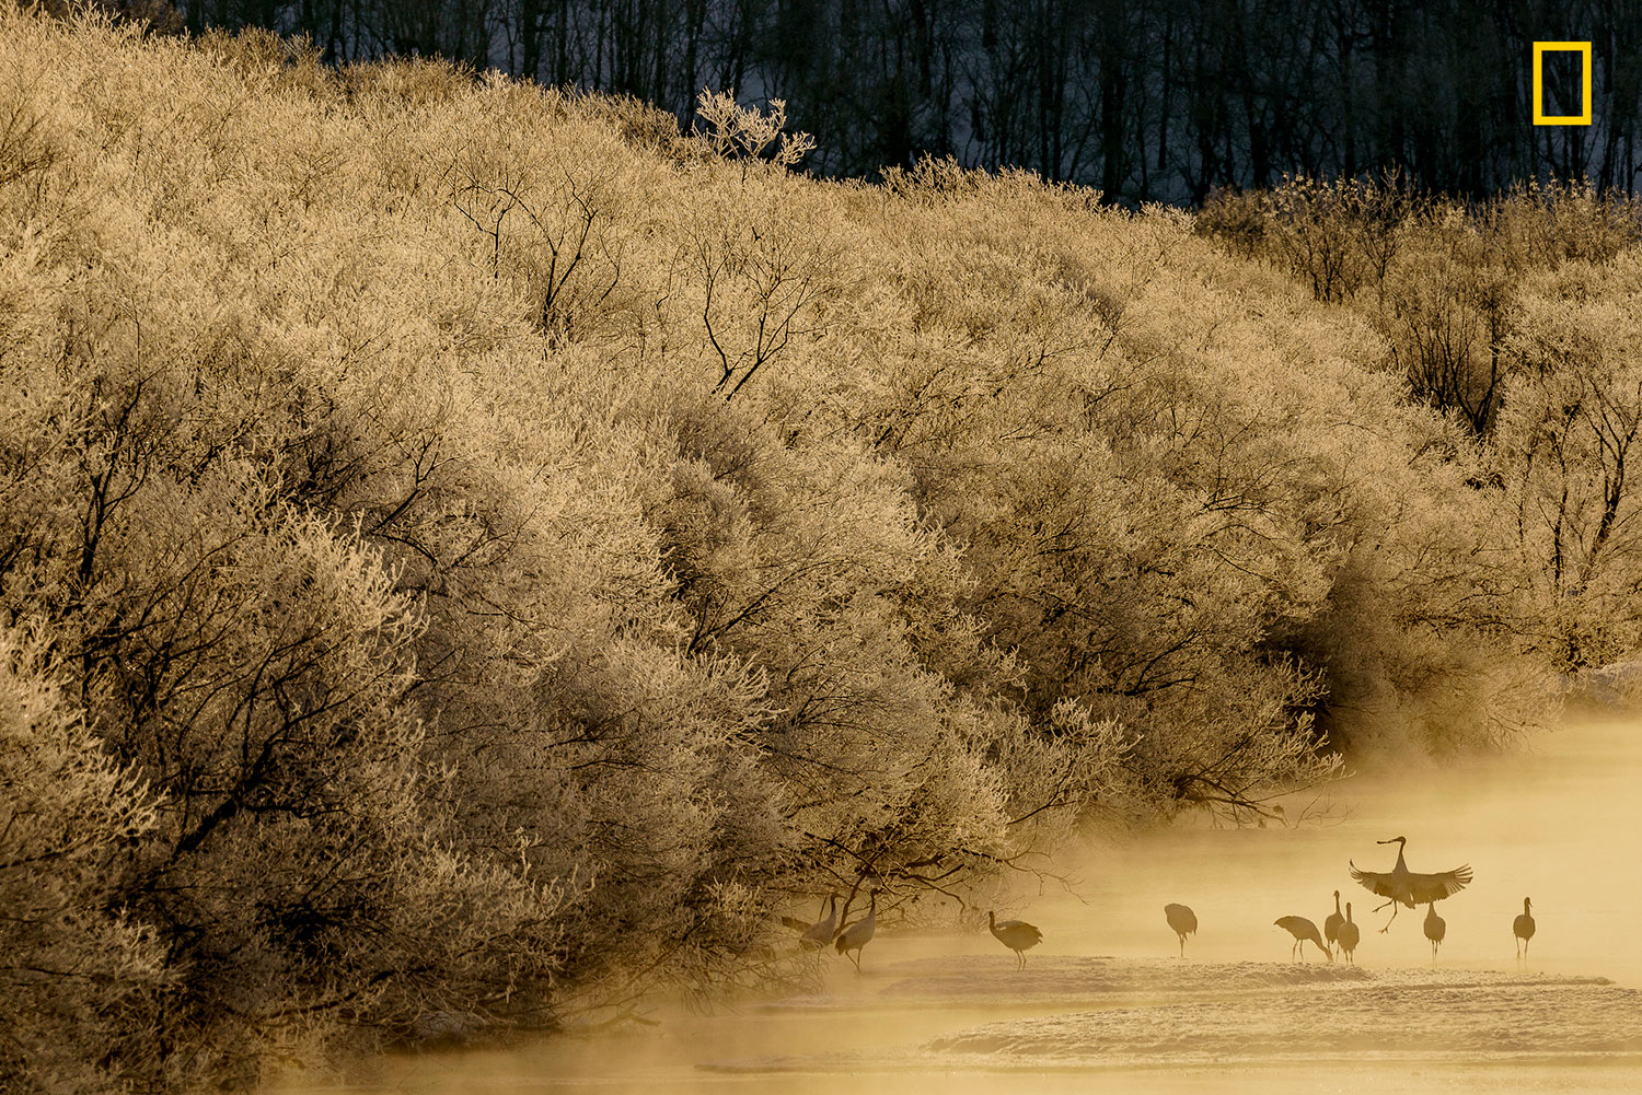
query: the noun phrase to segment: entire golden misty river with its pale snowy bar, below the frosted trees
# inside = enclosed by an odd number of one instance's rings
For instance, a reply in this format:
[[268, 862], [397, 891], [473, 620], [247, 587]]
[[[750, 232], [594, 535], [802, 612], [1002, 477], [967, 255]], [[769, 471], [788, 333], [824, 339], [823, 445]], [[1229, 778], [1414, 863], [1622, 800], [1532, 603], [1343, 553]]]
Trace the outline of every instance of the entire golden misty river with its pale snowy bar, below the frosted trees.
[[[1044, 932], [1023, 972], [988, 934], [880, 934], [864, 974], [828, 952], [821, 992], [650, 1029], [507, 1051], [407, 1054], [346, 1090], [455, 1092], [1627, 1092], [1642, 1088], [1642, 722], [1581, 717], [1507, 755], [1387, 765], [1284, 801], [1291, 819], [1100, 839], [1067, 854], [1076, 895], [1018, 891]], [[1438, 903], [1373, 913], [1346, 873], [1470, 864]], [[1273, 921], [1351, 901], [1360, 970]], [[1539, 932], [1514, 957], [1512, 918]], [[1163, 906], [1199, 934], [1176, 955]], [[1608, 978], [1612, 983], [1603, 983]], [[284, 1092], [337, 1092], [312, 1077]], [[1389, 1088], [1387, 1088], [1389, 1090]]]

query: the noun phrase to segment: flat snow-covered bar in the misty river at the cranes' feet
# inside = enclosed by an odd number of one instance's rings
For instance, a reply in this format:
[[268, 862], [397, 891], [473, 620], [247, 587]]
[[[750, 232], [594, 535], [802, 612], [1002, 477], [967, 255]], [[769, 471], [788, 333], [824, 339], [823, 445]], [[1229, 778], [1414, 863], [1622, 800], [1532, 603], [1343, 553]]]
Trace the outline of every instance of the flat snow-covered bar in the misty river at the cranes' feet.
[[[974, 957], [903, 962], [875, 998], [775, 1008], [1031, 1010], [898, 1051], [721, 1061], [727, 1072], [1110, 1069], [1333, 1062], [1642, 1064], [1642, 992], [1601, 977], [1325, 962], [1195, 964], [1048, 957], [1026, 970]], [[988, 964], [990, 965], [990, 964]], [[1008, 965], [1000, 959], [998, 965]], [[1044, 1013], [1046, 1011], [1046, 1013]]]

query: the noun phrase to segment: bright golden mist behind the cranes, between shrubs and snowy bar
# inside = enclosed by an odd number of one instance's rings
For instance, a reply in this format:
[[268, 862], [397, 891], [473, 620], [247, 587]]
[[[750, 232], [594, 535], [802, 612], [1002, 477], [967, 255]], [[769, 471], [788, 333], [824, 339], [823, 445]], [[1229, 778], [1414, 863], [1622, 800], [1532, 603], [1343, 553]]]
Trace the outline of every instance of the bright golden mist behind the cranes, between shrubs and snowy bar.
[[[1299, 795], [1289, 827], [1212, 827], [1205, 819], [1092, 847], [1076, 873], [1082, 913], [1056, 901], [1030, 909], [1053, 932], [1044, 949], [1077, 954], [1156, 954], [1167, 942], [1163, 905], [1197, 911], [1187, 944], [1197, 960], [1281, 960], [1292, 939], [1277, 916], [1319, 924], [1333, 890], [1353, 905], [1363, 942], [1360, 965], [1429, 965], [1420, 931], [1425, 908], [1373, 913], [1383, 898], [1351, 880], [1348, 860], [1391, 870], [1406, 836], [1409, 868], [1438, 872], [1470, 864], [1470, 887], [1437, 906], [1447, 919], [1438, 965], [1516, 969], [1511, 924], [1534, 898], [1539, 934], [1525, 969], [1599, 974], [1642, 987], [1637, 873], [1642, 864], [1642, 724], [1571, 721], [1519, 752], [1381, 768]], [[1026, 908], [1026, 906], [1023, 906]], [[1062, 921], [1064, 918], [1064, 921]], [[1049, 926], [1054, 924], [1054, 929]], [[1057, 929], [1057, 931], [1056, 931]], [[1307, 947], [1307, 960], [1320, 955]]]

